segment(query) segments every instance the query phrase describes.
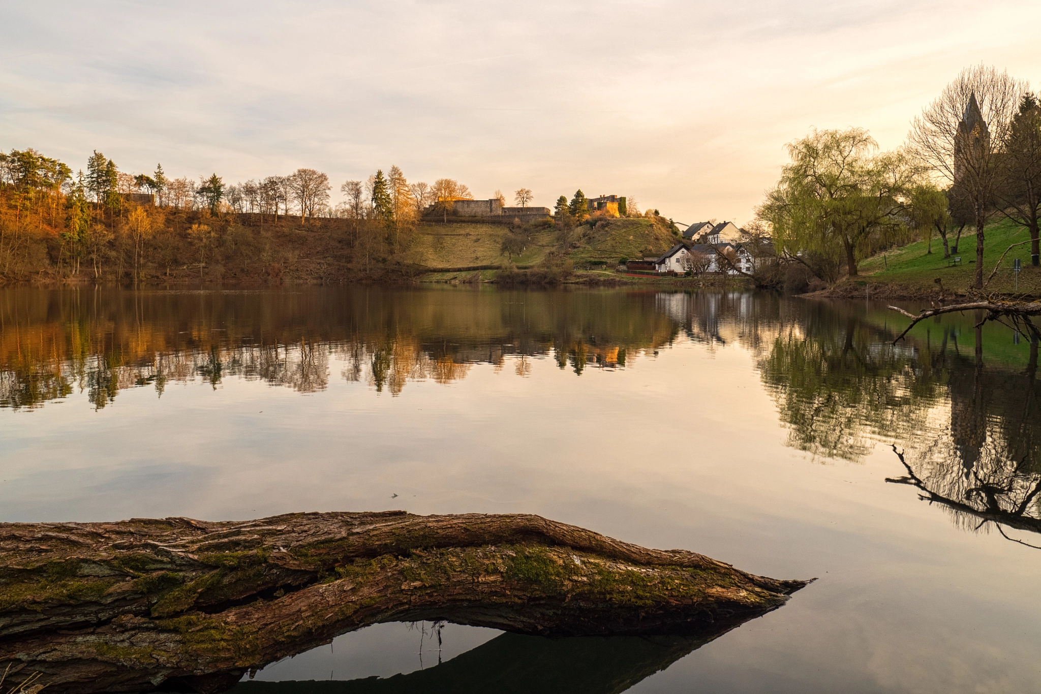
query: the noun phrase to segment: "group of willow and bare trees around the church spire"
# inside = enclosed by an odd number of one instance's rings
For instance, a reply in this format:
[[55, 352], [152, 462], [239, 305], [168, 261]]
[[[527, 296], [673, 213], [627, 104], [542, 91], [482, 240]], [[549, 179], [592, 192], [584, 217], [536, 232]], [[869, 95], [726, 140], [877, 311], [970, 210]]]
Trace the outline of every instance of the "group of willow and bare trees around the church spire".
[[843, 265], [856, 276], [861, 259], [919, 236], [932, 252], [934, 233], [945, 256], [957, 253], [974, 227], [982, 288], [984, 228], [999, 216], [1029, 230], [1039, 264], [1041, 106], [1007, 73], [964, 70], [896, 150], [880, 152], [862, 128], [814, 130], [787, 149], [791, 161], [757, 214], [781, 255], [826, 280]]

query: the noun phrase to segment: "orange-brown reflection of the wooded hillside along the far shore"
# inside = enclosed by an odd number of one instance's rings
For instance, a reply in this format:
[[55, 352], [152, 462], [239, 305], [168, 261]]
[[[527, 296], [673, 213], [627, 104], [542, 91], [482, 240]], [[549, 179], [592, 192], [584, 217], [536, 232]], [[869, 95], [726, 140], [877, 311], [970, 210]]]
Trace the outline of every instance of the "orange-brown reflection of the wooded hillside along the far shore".
[[85, 392], [104, 407], [125, 388], [228, 377], [301, 392], [341, 376], [398, 394], [449, 383], [474, 363], [550, 355], [576, 374], [631, 363], [677, 326], [653, 292], [385, 290], [0, 292], [0, 407]]

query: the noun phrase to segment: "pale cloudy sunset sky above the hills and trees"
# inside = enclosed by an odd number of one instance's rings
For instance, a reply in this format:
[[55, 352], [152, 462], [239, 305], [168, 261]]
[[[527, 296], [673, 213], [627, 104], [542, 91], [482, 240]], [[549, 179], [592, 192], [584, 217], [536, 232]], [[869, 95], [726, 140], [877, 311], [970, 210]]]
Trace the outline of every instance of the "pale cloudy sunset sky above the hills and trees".
[[[1037, 0], [0, 4], [0, 148], [226, 182], [398, 164], [743, 223], [811, 127], [898, 146], [965, 66], [1041, 86]], [[509, 196], [512, 197], [512, 196]]]

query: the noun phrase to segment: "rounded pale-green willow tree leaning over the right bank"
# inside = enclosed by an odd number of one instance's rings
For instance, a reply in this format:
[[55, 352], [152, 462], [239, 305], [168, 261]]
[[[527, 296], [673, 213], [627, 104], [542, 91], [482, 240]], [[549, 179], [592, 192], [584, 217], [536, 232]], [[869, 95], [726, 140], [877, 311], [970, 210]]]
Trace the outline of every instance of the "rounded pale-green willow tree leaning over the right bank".
[[862, 128], [814, 130], [787, 149], [791, 163], [759, 216], [779, 251], [844, 259], [855, 277], [859, 258], [904, 229], [914, 171], [900, 152], [878, 153]]

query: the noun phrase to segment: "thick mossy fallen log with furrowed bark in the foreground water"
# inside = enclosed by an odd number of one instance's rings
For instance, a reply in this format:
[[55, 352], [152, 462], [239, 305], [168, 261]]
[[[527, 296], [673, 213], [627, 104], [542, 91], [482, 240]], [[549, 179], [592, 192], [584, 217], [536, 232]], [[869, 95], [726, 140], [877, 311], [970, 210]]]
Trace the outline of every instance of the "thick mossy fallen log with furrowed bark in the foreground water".
[[49, 693], [208, 694], [378, 622], [699, 634], [806, 584], [524, 514], [0, 523], [0, 672]]

